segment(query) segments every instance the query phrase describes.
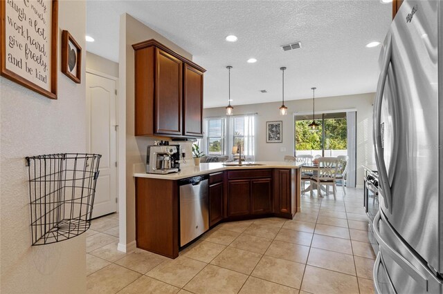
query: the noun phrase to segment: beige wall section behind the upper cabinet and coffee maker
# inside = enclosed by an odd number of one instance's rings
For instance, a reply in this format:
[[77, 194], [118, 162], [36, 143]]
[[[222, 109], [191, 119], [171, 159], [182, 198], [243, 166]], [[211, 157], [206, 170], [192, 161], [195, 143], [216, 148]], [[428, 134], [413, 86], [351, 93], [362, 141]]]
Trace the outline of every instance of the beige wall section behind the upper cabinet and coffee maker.
[[[120, 130], [126, 130], [126, 137], [120, 136], [118, 146], [118, 161], [121, 163], [118, 173], [126, 175], [126, 181], [119, 182], [120, 241], [118, 248], [121, 251], [132, 251], [136, 239], [135, 180], [132, 176], [134, 166], [145, 163], [146, 146], [154, 143], [152, 137], [134, 136], [134, 49], [132, 44], [148, 39], [156, 39], [183, 57], [192, 60], [192, 55], [189, 52], [143, 25], [129, 14], [123, 14], [120, 17], [118, 120]], [[121, 95], [125, 95], [125, 97], [121, 97]]]

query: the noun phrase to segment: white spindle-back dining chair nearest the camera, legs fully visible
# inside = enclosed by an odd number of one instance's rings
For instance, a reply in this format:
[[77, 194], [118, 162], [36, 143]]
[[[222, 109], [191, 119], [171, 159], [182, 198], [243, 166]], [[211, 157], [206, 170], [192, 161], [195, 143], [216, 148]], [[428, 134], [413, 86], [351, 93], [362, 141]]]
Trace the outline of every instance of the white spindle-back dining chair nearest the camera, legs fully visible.
[[311, 184], [317, 185], [317, 194], [321, 195], [321, 186], [326, 186], [326, 193], [329, 194], [329, 186], [332, 186], [334, 200], [336, 199], [336, 171], [338, 159], [336, 157], [320, 157], [318, 160], [318, 173], [311, 177]]

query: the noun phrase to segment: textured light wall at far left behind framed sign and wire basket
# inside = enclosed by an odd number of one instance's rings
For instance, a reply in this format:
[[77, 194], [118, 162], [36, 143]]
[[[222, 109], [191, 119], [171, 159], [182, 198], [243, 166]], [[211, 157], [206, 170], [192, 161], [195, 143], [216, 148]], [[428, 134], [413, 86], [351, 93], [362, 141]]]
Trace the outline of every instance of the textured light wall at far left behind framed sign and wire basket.
[[0, 292], [84, 293], [84, 235], [31, 246], [28, 168], [24, 157], [86, 150], [86, 88], [60, 72], [62, 30], [82, 50], [85, 66], [86, 2], [59, 1], [58, 99], [51, 100], [0, 77]]

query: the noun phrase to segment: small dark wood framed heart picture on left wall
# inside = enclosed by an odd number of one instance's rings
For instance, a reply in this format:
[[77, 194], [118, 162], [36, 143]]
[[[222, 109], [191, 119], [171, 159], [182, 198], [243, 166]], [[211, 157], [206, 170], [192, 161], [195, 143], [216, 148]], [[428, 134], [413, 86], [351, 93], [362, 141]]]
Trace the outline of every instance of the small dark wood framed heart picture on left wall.
[[82, 78], [82, 48], [67, 30], [62, 32], [62, 72], [75, 83]]

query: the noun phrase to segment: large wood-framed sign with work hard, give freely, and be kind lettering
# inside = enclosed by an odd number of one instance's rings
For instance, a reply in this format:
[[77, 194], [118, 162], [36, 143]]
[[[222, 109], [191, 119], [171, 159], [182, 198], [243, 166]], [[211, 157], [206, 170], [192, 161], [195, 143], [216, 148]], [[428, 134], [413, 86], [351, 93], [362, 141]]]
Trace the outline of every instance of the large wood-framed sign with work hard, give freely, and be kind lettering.
[[58, 1], [0, 1], [0, 74], [57, 99]]

